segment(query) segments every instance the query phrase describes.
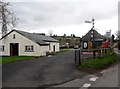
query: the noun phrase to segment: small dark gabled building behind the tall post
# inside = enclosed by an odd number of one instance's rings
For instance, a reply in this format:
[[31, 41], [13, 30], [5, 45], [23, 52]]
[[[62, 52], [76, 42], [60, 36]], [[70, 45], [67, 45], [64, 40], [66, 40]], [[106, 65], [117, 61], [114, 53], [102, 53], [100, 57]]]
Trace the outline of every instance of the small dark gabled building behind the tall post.
[[91, 29], [85, 36], [82, 37], [82, 47], [83, 49], [89, 48], [89, 41], [93, 44], [93, 31], [94, 31], [94, 39], [95, 39], [95, 47], [102, 45], [104, 41], [104, 36], [98, 33], [96, 30]]

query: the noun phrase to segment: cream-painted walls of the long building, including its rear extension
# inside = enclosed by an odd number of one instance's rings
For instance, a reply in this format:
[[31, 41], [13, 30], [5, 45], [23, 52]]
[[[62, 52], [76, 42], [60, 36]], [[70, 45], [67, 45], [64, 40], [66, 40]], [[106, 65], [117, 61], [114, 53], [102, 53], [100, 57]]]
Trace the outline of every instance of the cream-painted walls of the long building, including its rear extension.
[[[15, 34], [15, 39], [13, 39], [13, 35]], [[10, 43], [19, 43], [19, 56], [42, 56], [46, 55], [47, 51], [53, 52], [53, 47], [55, 45], [55, 52], [59, 51], [59, 43], [58, 42], [46, 42], [49, 45], [40, 46], [37, 43], [29, 40], [28, 38], [22, 36], [21, 34], [13, 31], [2, 40], [0, 40], [0, 45], [5, 46], [5, 50], [0, 52], [0, 55], [10, 56]], [[25, 46], [32, 45], [34, 46], [34, 52], [25, 52]], [[50, 47], [50, 48], [49, 48]]]

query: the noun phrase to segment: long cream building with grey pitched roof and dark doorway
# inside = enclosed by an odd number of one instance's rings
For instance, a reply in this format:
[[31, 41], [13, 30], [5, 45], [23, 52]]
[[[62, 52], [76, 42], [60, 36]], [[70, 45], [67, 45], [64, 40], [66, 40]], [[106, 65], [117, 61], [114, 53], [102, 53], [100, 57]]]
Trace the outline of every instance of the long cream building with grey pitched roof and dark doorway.
[[0, 56], [45, 56], [58, 52], [59, 42], [50, 36], [12, 30], [0, 39]]

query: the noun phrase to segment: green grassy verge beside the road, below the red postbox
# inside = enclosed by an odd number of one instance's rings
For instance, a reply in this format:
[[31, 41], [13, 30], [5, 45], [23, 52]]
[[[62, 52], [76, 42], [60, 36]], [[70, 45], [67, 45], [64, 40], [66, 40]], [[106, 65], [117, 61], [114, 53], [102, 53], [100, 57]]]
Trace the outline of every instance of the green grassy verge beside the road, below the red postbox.
[[102, 58], [83, 60], [78, 68], [101, 69], [117, 61], [116, 53], [109, 53]]

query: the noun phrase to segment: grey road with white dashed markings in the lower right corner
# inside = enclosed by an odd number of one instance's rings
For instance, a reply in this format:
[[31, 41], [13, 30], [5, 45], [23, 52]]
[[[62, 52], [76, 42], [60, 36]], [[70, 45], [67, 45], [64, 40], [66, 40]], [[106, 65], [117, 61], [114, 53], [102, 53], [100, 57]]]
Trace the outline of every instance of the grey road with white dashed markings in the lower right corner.
[[[115, 49], [118, 54], [118, 60], [120, 60], [120, 50]], [[120, 62], [115, 63], [107, 69], [102, 70], [99, 73], [86, 75], [83, 78], [78, 78], [64, 84], [52, 86], [48, 89], [54, 89], [53, 87], [71, 87], [73, 89], [118, 89], [120, 88]], [[57, 89], [56, 88], [56, 89]]]

